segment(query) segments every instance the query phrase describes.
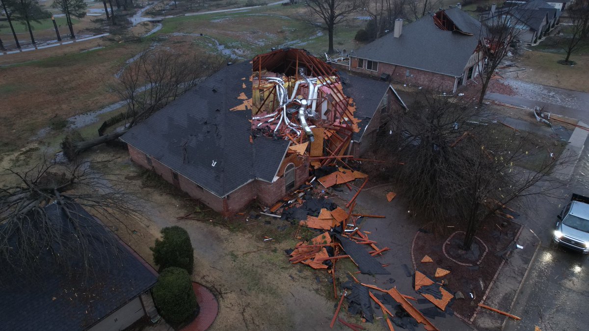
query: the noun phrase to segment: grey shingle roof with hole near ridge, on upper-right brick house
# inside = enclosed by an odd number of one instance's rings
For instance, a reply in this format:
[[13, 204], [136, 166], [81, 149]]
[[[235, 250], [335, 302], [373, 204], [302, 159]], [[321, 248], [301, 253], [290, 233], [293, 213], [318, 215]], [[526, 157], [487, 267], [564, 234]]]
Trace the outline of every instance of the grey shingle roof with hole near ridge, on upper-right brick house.
[[353, 52], [353, 56], [459, 77], [478, 45], [480, 23], [459, 8], [445, 10], [455, 25], [473, 36], [443, 31], [431, 15], [406, 25], [401, 36], [388, 34]]

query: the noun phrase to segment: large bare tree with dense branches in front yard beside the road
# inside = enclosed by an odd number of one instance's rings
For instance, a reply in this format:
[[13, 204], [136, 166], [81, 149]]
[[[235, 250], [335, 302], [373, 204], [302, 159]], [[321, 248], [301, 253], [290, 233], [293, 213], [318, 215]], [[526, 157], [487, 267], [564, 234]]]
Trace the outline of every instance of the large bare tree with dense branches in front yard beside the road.
[[[536, 146], [531, 136], [505, 134], [492, 118], [469, 102], [426, 92], [409, 111], [391, 112], [378, 139], [380, 157], [389, 158], [385, 171], [408, 198], [409, 210], [438, 230], [462, 224], [465, 249], [480, 224], [505, 204], [561, 186], [550, 175], [568, 161], [530, 148]], [[541, 164], [522, 167], [532, 157]]]

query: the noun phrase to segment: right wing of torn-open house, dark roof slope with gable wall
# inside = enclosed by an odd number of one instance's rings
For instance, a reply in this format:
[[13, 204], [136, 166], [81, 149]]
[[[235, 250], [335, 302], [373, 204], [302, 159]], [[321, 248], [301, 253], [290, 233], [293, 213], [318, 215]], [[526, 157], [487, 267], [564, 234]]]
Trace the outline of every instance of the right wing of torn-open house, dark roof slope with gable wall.
[[380, 125], [386, 123], [386, 115], [392, 108], [407, 109], [399, 92], [388, 83], [340, 73], [344, 94], [351, 97], [356, 106], [356, 118], [362, 120], [359, 132], [352, 135], [349, 155], [360, 157], [376, 140]]

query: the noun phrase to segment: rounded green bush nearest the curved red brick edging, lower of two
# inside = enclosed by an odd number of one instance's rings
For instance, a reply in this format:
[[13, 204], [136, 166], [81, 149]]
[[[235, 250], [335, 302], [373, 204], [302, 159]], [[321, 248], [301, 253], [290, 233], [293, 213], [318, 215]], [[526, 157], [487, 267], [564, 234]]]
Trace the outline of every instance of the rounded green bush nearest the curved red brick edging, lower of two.
[[171, 325], [179, 326], [196, 316], [198, 303], [186, 270], [177, 267], [164, 269], [152, 293], [155, 307]]

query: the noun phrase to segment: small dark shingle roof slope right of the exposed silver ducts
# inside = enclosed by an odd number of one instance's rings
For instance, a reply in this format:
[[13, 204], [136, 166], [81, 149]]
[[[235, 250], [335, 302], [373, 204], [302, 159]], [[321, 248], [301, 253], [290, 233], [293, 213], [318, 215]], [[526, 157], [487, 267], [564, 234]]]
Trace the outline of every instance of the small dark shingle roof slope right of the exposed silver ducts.
[[342, 80], [343, 93], [352, 98], [356, 106], [354, 115], [358, 120], [359, 132], [352, 135], [354, 141], [359, 141], [364, 130], [380, 105], [380, 101], [386, 94], [389, 84], [382, 81], [370, 80], [368, 78], [349, 75], [346, 72], [339, 72]]

